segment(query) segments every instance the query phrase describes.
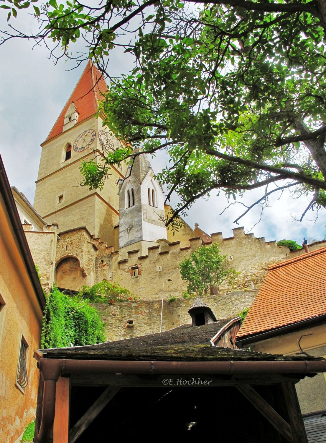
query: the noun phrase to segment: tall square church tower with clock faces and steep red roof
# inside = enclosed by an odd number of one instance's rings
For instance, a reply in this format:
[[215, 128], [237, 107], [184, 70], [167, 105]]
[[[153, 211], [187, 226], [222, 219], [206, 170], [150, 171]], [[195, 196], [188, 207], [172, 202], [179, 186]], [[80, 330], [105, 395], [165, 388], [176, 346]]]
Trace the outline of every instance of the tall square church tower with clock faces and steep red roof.
[[107, 90], [99, 71], [87, 63], [75, 89], [42, 143], [34, 207], [44, 220], [55, 220], [59, 231], [86, 226], [91, 234], [114, 245], [114, 225], [118, 224], [118, 187], [122, 171], [110, 170], [102, 190], [79, 186], [80, 161], [101, 161], [99, 149], [112, 137], [96, 118], [98, 102]]

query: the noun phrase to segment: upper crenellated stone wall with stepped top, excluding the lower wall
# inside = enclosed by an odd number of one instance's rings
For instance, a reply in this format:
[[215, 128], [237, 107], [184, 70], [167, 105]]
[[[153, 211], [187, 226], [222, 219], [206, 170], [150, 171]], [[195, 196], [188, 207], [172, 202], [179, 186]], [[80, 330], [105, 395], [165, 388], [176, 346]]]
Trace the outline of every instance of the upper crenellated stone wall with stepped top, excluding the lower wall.
[[[287, 247], [277, 246], [275, 241], [265, 242], [264, 238], [255, 238], [253, 234], [245, 234], [243, 228], [233, 229], [233, 233], [233, 237], [225, 239], [222, 233], [211, 235], [212, 241], [216, 241], [221, 252], [229, 257], [231, 266], [240, 272], [234, 288], [220, 286], [219, 291], [222, 294], [230, 290], [259, 288], [267, 268], [290, 256]], [[188, 245], [183, 247], [180, 241], [169, 243], [162, 239], [157, 243], [158, 245], [148, 247], [145, 255], [144, 251], [134, 249], [135, 245], [131, 245], [121, 257], [118, 251], [91, 236], [84, 227], [65, 231], [60, 234], [57, 245], [57, 286], [68, 285], [68, 289], [78, 290], [82, 284], [91, 286], [106, 279], [129, 289], [142, 300], [157, 300], [162, 297], [164, 283], [165, 299], [171, 295], [181, 297], [186, 290], [186, 282], [181, 279], [178, 265], [201, 246], [201, 238], [190, 238]], [[68, 257], [79, 260], [82, 274], [81, 277], [80, 274], [76, 277], [75, 269], [71, 272], [70, 282], [69, 266], [62, 266], [64, 269], [60, 266], [60, 262]]]

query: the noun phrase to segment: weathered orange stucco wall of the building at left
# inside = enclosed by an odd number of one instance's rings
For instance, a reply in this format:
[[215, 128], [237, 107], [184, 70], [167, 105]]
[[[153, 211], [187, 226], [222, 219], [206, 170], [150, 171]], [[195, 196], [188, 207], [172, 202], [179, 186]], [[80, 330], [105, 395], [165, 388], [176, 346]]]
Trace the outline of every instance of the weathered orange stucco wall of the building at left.
[[[0, 219], [0, 441], [13, 443], [34, 420], [38, 369], [33, 351], [40, 346], [42, 309], [1, 209]], [[22, 336], [28, 344], [24, 392], [15, 385]]]

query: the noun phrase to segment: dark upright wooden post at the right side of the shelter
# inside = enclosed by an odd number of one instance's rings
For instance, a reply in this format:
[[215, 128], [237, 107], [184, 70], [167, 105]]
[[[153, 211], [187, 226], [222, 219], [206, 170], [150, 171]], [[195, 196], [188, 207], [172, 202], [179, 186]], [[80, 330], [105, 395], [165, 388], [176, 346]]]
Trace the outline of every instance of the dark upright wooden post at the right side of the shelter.
[[288, 411], [293, 439], [296, 443], [308, 443], [306, 430], [304, 428], [296, 387], [293, 382], [281, 383], [284, 402]]

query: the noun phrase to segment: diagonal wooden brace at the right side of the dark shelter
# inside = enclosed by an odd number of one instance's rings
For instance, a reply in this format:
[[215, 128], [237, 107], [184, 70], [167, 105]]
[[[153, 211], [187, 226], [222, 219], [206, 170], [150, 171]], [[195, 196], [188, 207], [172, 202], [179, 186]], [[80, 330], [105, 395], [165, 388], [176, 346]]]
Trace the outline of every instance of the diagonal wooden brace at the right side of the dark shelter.
[[247, 400], [269, 421], [275, 429], [280, 432], [289, 442], [294, 442], [292, 438], [291, 427], [289, 424], [275, 411], [265, 399], [258, 394], [250, 385], [237, 385], [236, 388]]

